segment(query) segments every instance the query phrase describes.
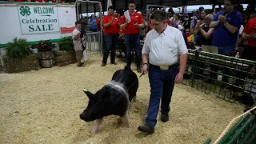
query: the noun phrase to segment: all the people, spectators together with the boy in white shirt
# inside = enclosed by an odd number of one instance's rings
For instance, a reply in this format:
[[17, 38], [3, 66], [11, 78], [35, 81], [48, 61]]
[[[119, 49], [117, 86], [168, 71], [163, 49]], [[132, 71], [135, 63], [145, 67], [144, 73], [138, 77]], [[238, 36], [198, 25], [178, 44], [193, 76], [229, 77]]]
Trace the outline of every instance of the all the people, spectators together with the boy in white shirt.
[[[246, 14], [236, 0], [224, 0], [224, 7], [213, 13], [199, 7], [190, 14], [174, 14], [170, 9], [152, 10], [146, 15], [135, 11], [135, 2], [129, 3], [128, 13], [114, 14], [114, 7], [108, 7], [108, 14], [103, 16], [102, 26], [94, 15], [76, 22], [74, 41], [84, 34], [86, 25], [95, 32], [103, 30], [105, 51], [102, 66], [106, 66], [108, 55], [110, 63], [116, 65], [115, 52], [118, 38], [124, 38], [126, 47], [126, 70], [131, 66], [131, 50], [134, 47], [138, 73], [149, 73], [150, 102], [145, 125], [138, 130], [154, 133], [158, 110], [161, 107], [161, 121], [169, 121], [170, 102], [174, 83], [181, 83], [186, 69], [189, 44], [194, 46], [215, 46], [218, 54], [232, 56], [236, 47], [245, 44], [242, 58], [255, 61], [256, 18], [255, 13]], [[102, 16], [102, 15], [100, 15]], [[142, 51], [140, 40], [145, 40]], [[78, 45], [76, 45], [78, 46]], [[192, 47], [193, 48], [193, 47]], [[77, 49], [78, 50], [78, 49]], [[78, 63], [81, 65], [81, 50], [78, 51]], [[110, 53], [111, 51], [111, 53]], [[80, 55], [79, 55], [80, 54]], [[141, 66], [142, 60], [142, 66]], [[213, 71], [215, 67], [212, 67]], [[215, 70], [216, 71], [216, 70]], [[226, 74], [224, 69], [224, 74]], [[214, 74], [213, 74], [214, 75]], [[214, 76], [215, 78], [215, 76]], [[223, 82], [227, 78], [223, 76]], [[161, 104], [160, 104], [161, 102]]]

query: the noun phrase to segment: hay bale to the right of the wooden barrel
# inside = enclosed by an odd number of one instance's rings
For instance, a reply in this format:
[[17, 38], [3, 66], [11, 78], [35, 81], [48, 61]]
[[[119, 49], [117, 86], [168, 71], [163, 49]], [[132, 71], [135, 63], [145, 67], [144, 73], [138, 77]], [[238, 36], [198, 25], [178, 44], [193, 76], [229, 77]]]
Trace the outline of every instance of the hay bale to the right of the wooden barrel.
[[54, 51], [54, 55], [56, 66], [66, 66], [77, 62], [75, 51]]

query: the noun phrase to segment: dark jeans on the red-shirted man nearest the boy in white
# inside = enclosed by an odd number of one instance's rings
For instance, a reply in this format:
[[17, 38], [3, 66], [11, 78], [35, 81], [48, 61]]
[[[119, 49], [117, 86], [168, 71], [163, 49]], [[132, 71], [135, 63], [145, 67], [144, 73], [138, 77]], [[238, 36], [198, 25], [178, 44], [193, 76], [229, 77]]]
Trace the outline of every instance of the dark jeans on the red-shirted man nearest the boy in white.
[[136, 56], [136, 65], [140, 66], [141, 64], [141, 51], [140, 51], [140, 38], [139, 34], [126, 34], [126, 63], [127, 66], [131, 65], [131, 50], [132, 45], [134, 44], [135, 56]]

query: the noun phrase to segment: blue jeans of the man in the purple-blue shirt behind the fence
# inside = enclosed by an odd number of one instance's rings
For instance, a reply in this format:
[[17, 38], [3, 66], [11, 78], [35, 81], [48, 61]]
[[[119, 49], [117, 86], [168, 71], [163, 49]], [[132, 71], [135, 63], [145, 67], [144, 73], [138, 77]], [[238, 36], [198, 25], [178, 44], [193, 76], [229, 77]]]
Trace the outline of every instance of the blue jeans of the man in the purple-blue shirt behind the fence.
[[[234, 53], [235, 46], [218, 46], [218, 45], [213, 45], [218, 47], [218, 54], [230, 56], [231, 54]], [[218, 66], [211, 66], [211, 70], [218, 72]], [[229, 75], [230, 74], [230, 69], [224, 68], [223, 69], [223, 74]], [[210, 74], [213, 75], [214, 79], [218, 78], [218, 74]], [[222, 82], [228, 82], [228, 77], [222, 76]], [[226, 86], [225, 83], [222, 83], [222, 86]]]

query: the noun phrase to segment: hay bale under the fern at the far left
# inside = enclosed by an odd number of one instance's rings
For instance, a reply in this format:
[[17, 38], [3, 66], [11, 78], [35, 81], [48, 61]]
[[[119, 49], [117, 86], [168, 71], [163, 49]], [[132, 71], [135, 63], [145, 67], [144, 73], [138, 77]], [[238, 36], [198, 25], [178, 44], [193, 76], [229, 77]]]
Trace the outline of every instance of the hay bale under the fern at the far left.
[[3, 58], [4, 71], [6, 73], [20, 73], [23, 71], [39, 70], [41, 67], [38, 61], [38, 55], [31, 54], [26, 58], [12, 59]]

